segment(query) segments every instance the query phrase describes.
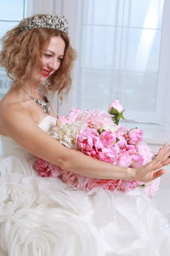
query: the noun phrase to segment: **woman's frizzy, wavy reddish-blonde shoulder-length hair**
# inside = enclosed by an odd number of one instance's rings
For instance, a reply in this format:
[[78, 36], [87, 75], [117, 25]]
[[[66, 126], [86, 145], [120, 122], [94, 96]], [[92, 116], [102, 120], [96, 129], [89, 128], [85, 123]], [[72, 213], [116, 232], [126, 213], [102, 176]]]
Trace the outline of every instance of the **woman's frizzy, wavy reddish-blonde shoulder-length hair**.
[[[32, 18], [35, 16], [37, 15]], [[64, 58], [59, 69], [48, 78], [48, 90], [53, 93], [57, 91], [62, 98], [70, 90], [71, 68], [76, 58], [76, 51], [72, 49], [68, 35], [52, 28], [21, 30], [20, 24], [8, 31], [2, 38], [3, 49], [0, 52], [0, 65], [6, 68], [8, 76], [14, 80], [14, 84], [24, 85], [30, 78], [38, 81], [42, 65], [42, 49], [49, 44], [50, 38], [54, 36], [62, 38], [65, 41]]]

